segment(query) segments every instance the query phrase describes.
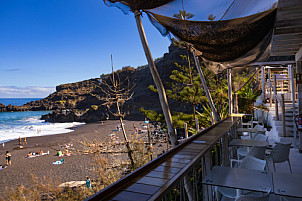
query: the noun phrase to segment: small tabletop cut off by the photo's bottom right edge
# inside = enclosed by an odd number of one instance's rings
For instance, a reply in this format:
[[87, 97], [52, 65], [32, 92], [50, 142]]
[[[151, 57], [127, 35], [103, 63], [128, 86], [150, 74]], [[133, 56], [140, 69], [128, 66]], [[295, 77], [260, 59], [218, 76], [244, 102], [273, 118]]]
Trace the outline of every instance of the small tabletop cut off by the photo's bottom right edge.
[[276, 195], [302, 198], [302, 175], [274, 172], [273, 183]]

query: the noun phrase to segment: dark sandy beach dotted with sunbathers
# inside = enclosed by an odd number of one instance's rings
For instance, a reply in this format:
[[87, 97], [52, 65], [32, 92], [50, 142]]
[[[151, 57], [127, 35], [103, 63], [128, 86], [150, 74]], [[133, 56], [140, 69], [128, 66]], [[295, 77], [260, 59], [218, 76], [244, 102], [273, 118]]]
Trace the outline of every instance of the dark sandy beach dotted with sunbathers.
[[[83, 154], [77, 150], [83, 150], [84, 145], [79, 141], [108, 139], [110, 134], [115, 133], [120, 141], [124, 141], [122, 131], [113, 131], [119, 124], [118, 120], [89, 123], [74, 129], [73, 132], [57, 135], [45, 135], [39, 137], [27, 138], [27, 145], [24, 148], [17, 149], [19, 146], [18, 140], [13, 140], [5, 143], [4, 147], [0, 147], [0, 164], [5, 164], [5, 152], [10, 151], [12, 155], [12, 165], [0, 170], [0, 192], [5, 191], [5, 187], [16, 188], [18, 185], [31, 186], [32, 175], [38, 178], [52, 178], [53, 181], [64, 183], [67, 181], [84, 181], [86, 176], [91, 179], [96, 179], [96, 173], [92, 170], [94, 162], [93, 153]], [[142, 128], [143, 121], [124, 121], [127, 135], [134, 131], [134, 126]], [[142, 133], [139, 135], [147, 135]], [[70, 156], [58, 157], [58, 150], [64, 151], [62, 146], [72, 143], [69, 152]], [[164, 146], [160, 146], [164, 148]], [[33, 158], [27, 158], [29, 152], [44, 153], [49, 151], [49, 155], [42, 155]], [[162, 150], [158, 150], [160, 153]], [[158, 154], [157, 153], [157, 154]], [[155, 154], [154, 154], [155, 155]], [[156, 155], [155, 155], [156, 157]], [[52, 164], [55, 161], [64, 159], [64, 163], [60, 165]]]

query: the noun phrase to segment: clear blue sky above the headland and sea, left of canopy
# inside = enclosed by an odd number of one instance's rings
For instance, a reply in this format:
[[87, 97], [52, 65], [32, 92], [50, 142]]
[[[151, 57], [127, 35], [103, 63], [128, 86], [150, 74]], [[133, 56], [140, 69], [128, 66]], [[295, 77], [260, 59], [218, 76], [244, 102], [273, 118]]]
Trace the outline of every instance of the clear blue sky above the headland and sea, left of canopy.
[[[143, 17], [154, 59], [170, 41]], [[0, 0], [0, 98], [46, 97], [55, 86], [147, 64], [132, 13], [102, 0]]]

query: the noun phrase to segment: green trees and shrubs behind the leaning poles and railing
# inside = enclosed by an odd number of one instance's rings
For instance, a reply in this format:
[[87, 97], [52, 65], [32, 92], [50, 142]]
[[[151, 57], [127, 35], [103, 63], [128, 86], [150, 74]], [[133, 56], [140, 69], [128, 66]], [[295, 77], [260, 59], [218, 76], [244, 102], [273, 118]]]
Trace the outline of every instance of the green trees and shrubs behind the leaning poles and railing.
[[[179, 45], [179, 44], [178, 44]], [[196, 118], [199, 122], [199, 127], [206, 128], [213, 124], [214, 118], [211, 108], [207, 103], [207, 99], [202, 88], [200, 77], [197, 74], [192, 61], [187, 55], [180, 55], [182, 60], [187, 61], [186, 64], [180, 65], [175, 63], [177, 70], [173, 70], [170, 75], [171, 82], [167, 83], [167, 96], [179, 102], [189, 104], [192, 107], [192, 113], [174, 112], [172, 114], [173, 125], [178, 130], [184, 129], [184, 124], [187, 123], [192, 134], [196, 133]], [[205, 67], [202, 67], [204, 76], [207, 78], [207, 86], [211, 93], [215, 107], [221, 117], [226, 118], [229, 115], [228, 105], [228, 88], [226, 73], [214, 74]], [[238, 89], [238, 110], [240, 113], [252, 114], [255, 110], [254, 102], [261, 94], [258, 88], [258, 81], [255, 79], [255, 74], [250, 75], [248, 69], [234, 70], [233, 89]], [[153, 85], [148, 87], [149, 90], [157, 92]], [[152, 121], [160, 121], [164, 123], [164, 117], [161, 113], [153, 110], [147, 110], [143, 107], [140, 111]]]

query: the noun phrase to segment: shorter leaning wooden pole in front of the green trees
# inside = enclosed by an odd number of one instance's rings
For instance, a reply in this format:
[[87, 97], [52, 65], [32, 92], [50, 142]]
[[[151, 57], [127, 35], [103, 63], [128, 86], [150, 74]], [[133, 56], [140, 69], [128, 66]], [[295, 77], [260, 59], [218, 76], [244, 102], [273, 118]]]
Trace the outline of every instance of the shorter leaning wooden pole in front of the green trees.
[[212, 100], [212, 96], [211, 96], [211, 94], [209, 92], [206, 80], [204, 79], [203, 72], [201, 70], [201, 67], [199, 65], [198, 59], [197, 59], [194, 51], [192, 51], [192, 54], [193, 54], [193, 57], [194, 57], [194, 61], [195, 61], [195, 65], [196, 65], [197, 71], [199, 73], [199, 76], [200, 76], [200, 79], [201, 79], [201, 82], [202, 82], [202, 86], [203, 86], [204, 92], [206, 93], [206, 96], [207, 96], [208, 101], [209, 101], [209, 105], [211, 107], [211, 110], [213, 111], [213, 115], [214, 115], [214, 118], [215, 118], [215, 123], [217, 123], [217, 122], [220, 121], [220, 117], [219, 117], [219, 115], [217, 113], [217, 110], [216, 110], [216, 108], [214, 106], [214, 103], [213, 103], [213, 100]]

